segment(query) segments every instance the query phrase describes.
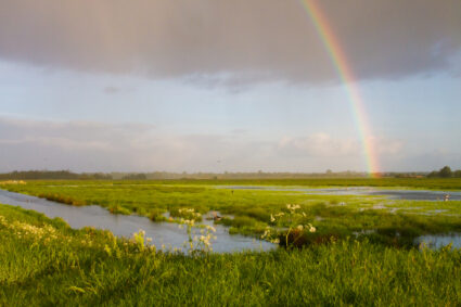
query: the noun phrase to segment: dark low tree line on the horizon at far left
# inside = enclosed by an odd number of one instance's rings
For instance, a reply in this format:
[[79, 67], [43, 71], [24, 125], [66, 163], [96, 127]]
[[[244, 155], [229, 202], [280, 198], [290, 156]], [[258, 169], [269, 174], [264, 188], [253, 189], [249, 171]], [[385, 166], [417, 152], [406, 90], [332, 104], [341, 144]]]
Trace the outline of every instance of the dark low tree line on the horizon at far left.
[[34, 179], [50, 179], [50, 180], [110, 180], [112, 175], [102, 172], [82, 172], [76, 174], [69, 170], [26, 170], [12, 171], [0, 174], [0, 180], [34, 180]]

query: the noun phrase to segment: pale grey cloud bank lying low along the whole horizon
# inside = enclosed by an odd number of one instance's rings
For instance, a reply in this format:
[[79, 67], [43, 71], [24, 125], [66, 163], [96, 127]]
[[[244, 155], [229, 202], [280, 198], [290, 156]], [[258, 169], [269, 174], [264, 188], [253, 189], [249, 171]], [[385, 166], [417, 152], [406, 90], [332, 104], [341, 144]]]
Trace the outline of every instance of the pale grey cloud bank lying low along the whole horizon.
[[[460, 165], [460, 154], [407, 150], [375, 138], [384, 170]], [[47, 121], [0, 117], [0, 171], [324, 171], [364, 170], [360, 143], [326, 133], [261, 140], [252, 133], [169, 133], [150, 125]]]

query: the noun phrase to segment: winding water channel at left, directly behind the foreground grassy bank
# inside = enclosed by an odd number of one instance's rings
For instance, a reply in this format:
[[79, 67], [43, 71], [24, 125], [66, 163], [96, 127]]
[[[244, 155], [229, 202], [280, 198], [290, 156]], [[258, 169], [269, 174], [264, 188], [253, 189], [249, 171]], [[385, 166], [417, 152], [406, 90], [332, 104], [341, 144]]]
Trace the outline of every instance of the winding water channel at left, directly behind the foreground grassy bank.
[[[35, 196], [13, 193], [0, 190], [0, 204], [20, 206], [44, 214], [50, 218], [61, 217], [72, 228], [79, 229], [86, 226], [112, 231], [117, 236], [131, 238], [132, 233], [140, 229], [145, 231], [148, 238], [152, 238], [152, 243], [157, 248], [165, 245], [164, 250], [183, 248], [183, 243], [188, 240], [184, 229], [179, 229], [174, 222], [153, 222], [146, 217], [136, 215], [113, 215], [100, 206], [76, 207], [64, 205]], [[204, 225], [212, 225], [213, 220], [204, 220]], [[277, 248], [277, 245], [266, 241], [239, 234], [229, 234], [228, 229], [221, 225], [216, 228], [216, 240], [212, 241], [213, 251], [216, 253], [230, 253], [241, 251], [269, 251]], [[199, 229], [194, 231], [200, 234]]]

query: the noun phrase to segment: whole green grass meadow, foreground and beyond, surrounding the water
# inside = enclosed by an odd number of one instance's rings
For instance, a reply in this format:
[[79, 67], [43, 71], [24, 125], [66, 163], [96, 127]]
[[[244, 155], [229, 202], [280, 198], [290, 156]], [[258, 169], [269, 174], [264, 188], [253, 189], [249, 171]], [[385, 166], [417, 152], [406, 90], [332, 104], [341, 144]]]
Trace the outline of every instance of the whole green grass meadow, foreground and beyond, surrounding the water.
[[[401, 181], [404, 180], [404, 181]], [[316, 183], [312, 183], [316, 182]], [[371, 183], [370, 183], [371, 182]], [[404, 183], [407, 184], [404, 184]], [[422, 234], [461, 232], [461, 202], [217, 189], [217, 186], [459, 189], [459, 179], [29, 181], [1, 189], [114, 214], [175, 219], [219, 210], [231, 232], [292, 231], [302, 248], [165, 254], [107, 231], [0, 205], [0, 305], [461, 304], [461, 251], [419, 250]], [[420, 184], [418, 184], [420, 183]], [[399, 186], [396, 186], [399, 184]], [[412, 186], [413, 184], [413, 186]], [[451, 188], [447, 188], [451, 187]], [[458, 188], [457, 188], [458, 187]], [[287, 206], [290, 205], [290, 206]], [[436, 210], [437, 214], [434, 214]], [[311, 225], [298, 230], [299, 226]], [[357, 234], [361, 233], [361, 234]], [[289, 243], [294, 243], [289, 240]], [[298, 244], [293, 244], [298, 245]]]

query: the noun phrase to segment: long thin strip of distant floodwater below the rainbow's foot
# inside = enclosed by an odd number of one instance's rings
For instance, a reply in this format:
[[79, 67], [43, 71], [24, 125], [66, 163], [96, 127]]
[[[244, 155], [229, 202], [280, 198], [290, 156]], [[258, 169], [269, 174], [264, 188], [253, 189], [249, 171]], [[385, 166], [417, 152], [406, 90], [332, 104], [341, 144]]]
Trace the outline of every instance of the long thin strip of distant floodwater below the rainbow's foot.
[[261, 190], [261, 191], [292, 191], [305, 192], [306, 194], [325, 195], [369, 195], [387, 196], [393, 200], [407, 201], [444, 201], [449, 195], [449, 201], [461, 201], [461, 192], [458, 191], [428, 191], [428, 190], [384, 190], [374, 188], [328, 188], [328, 189], [304, 189], [286, 187], [257, 187], [257, 186], [233, 186], [218, 187], [218, 189], [230, 190]]

